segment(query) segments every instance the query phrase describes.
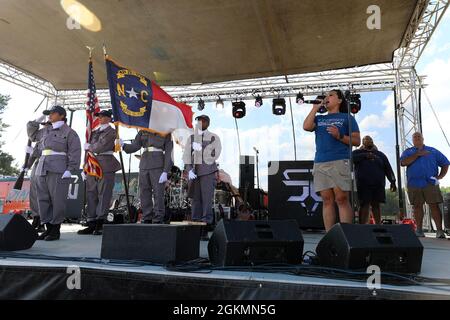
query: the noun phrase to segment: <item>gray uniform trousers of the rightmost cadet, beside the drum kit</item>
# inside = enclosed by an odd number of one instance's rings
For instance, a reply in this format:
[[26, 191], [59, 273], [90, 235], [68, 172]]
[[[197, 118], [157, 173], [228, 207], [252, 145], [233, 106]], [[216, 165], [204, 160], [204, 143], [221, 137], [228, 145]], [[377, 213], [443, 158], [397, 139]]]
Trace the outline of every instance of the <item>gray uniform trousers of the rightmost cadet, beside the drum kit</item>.
[[216, 189], [216, 173], [198, 176], [192, 181], [192, 220], [208, 224], [214, 222], [213, 197]]

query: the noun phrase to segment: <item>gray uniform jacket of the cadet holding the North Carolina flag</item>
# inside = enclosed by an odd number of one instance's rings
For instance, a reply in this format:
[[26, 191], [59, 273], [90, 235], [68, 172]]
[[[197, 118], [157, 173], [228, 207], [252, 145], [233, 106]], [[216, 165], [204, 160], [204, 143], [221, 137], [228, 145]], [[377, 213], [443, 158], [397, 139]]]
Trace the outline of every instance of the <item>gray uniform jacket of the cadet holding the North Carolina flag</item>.
[[126, 153], [133, 153], [141, 148], [155, 147], [164, 150], [160, 151], [145, 151], [142, 154], [139, 169], [150, 170], [163, 168], [163, 171], [169, 172], [173, 166], [172, 151], [173, 141], [172, 136], [168, 134], [166, 137], [161, 137], [155, 133], [141, 130], [138, 132], [134, 140], [130, 144], [124, 144], [123, 150]]

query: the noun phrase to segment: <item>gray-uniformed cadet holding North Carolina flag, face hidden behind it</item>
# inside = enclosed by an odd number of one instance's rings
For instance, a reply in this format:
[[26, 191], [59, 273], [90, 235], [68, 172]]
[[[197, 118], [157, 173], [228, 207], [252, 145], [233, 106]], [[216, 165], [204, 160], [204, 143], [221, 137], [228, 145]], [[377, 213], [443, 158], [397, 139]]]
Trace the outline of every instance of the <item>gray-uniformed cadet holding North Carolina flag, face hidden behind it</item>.
[[[164, 223], [164, 186], [172, 168], [172, 136], [141, 130], [130, 144], [119, 141], [126, 153], [144, 148], [139, 163], [139, 198], [143, 223]], [[152, 200], [152, 197], [154, 201]]]

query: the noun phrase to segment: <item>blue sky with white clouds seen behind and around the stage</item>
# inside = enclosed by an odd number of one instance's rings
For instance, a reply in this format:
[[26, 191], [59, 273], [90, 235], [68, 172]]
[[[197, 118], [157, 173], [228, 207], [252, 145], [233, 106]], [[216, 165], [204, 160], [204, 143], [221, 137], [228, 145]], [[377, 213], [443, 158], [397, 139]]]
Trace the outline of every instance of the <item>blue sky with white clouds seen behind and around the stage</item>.
[[[123, 62], [126, 64], [126, 62]], [[449, 126], [450, 109], [445, 99], [450, 89], [450, 10], [443, 17], [438, 29], [434, 33], [422, 55], [417, 70], [420, 75], [426, 75], [426, 92], [430, 97], [444, 131], [450, 136]], [[81, 70], [80, 72], [85, 72]], [[17, 163], [21, 164], [27, 137], [25, 124], [28, 120], [36, 118], [34, 108], [42, 99], [26, 89], [0, 80], [0, 93], [11, 96], [8, 110], [4, 120], [11, 126], [3, 136], [5, 151], [11, 153]], [[238, 120], [242, 154], [254, 155], [253, 147], [260, 150], [260, 177], [261, 186], [267, 190], [267, 162], [270, 160], [293, 160], [294, 148], [292, 138], [291, 117], [289, 103], [284, 116], [275, 116], [271, 110], [271, 100], [264, 100], [264, 105], [257, 109], [254, 101], [245, 101], [247, 115]], [[361, 128], [361, 134], [369, 134], [374, 138], [379, 149], [386, 153], [395, 171], [395, 131], [394, 109], [392, 92], [362, 93], [362, 110], [356, 119]], [[228, 172], [235, 185], [238, 184], [238, 147], [234, 119], [231, 116], [231, 103], [225, 102], [225, 108], [218, 110], [215, 103], [206, 104], [203, 112], [199, 112], [193, 105], [196, 114], [204, 113], [211, 117], [211, 131], [220, 135], [223, 152], [219, 159], [220, 166]], [[295, 135], [297, 140], [298, 160], [312, 160], [314, 156], [314, 134], [304, 132], [302, 123], [309, 112], [310, 106], [298, 106], [292, 99]], [[17, 111], [20, 110], [20, 113]], [[24, 111], [25, 110], [25, 111]], [[74, 117], [73, 127], [77, 130], [84, 143], [85, 119], [83, 112]], [[441, 150], [450, 157], [450, 148], [444, 140], [443, 134], [431, 112], [430, 107], [423, 99], [423, 127], [425, 143]], [[121, 130], [124, 139], [132, 138], [135, 130]], [[175, 150], [175, 163], [182, 166], [181, 149]], [[125, 165], [128, 167], [128, 156]], [[132, 171], [137, 171], [138, 161], [132, 157]], [[450, 175], [442, 181], [442, 185], [450, 186]]]

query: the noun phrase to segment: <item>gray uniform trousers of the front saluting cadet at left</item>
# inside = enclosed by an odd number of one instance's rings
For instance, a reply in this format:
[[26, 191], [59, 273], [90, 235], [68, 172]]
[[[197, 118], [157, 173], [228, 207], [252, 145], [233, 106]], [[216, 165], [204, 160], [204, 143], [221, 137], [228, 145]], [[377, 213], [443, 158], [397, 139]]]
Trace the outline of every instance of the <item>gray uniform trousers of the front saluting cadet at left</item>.
[[61, 224], [65, 218], [67, 195], [73, 179], [62, 179], [62, 173], [47, 172], [37, 176], [41, 223]]

